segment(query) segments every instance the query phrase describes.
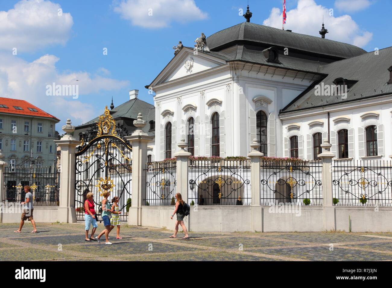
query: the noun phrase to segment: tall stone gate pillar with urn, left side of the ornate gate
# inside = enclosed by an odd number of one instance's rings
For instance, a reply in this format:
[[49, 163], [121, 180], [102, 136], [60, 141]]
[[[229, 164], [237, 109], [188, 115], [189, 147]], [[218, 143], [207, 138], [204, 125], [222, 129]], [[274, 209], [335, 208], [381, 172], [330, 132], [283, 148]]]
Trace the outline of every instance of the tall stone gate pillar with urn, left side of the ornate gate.
[[60, 147], [60, 205], [57, 219], [62, 223], [75, 223], [75, 147], [80, 145], [80, 141], [71, 135], [75, 130], [71, 119], [67, 119], [67, 125], [62, 129], [65, 135], [54, 141]]

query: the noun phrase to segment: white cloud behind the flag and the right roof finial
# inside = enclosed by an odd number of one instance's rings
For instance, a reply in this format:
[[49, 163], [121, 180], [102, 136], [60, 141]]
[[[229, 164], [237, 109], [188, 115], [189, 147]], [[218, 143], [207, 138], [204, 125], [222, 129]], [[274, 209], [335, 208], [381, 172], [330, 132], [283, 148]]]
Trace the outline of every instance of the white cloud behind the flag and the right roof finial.
[[[295, 9], [287, 11], [285, 29], [319, 37], [323, 16], [325, 28], [328, 29], [328, 34], [325, 37], [328, 39], [360, 47], [365, 46], [372, 39], [373, 33], [361, 31], [350, 15], [330, 16], [329, 8], [317, 5], [314, 0], [299, 0]], [[269, 18], [264, 20], [263, 24], [281, 29], [281, 10], [272, 8]]]

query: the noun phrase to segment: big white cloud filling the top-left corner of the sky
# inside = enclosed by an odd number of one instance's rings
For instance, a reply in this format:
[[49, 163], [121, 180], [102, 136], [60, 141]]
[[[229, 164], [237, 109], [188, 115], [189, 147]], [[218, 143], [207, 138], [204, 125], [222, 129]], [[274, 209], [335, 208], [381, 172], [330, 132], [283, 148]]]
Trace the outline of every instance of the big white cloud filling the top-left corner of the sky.
[[34, 51], [48, 45], [64, 45], [73, 25], [72, 16], [59, 4], [22, 0], [13, 9], [0, 11], [0, 49]]

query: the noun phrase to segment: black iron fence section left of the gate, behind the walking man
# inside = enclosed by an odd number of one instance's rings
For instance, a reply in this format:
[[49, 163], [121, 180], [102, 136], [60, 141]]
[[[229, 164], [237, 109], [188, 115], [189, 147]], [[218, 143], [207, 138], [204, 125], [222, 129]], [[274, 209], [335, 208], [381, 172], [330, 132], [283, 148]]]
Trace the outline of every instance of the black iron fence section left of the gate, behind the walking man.
[[20, 203], [25, 200], [24, 186], [33, 194], [33, 206], [58, 206], [60, 172], [54, 167], [5, 167], [4, 201]]

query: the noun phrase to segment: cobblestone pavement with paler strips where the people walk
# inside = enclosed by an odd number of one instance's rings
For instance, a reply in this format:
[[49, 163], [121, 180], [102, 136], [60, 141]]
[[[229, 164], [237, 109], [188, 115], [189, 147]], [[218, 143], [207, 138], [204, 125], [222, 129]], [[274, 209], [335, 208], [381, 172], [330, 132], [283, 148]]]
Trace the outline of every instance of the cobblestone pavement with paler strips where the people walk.
[[[256, 260], [256, 261], [390, 261], [392, 233], [183, 233], [170, 239], [172, 231], [121, 226], [123, 239], [113, 245], [105, 241], [84, 241], [84, 223], [38, 223], [37, 234], [25, 223], [22, 233], [13, 233], [18, 224], [0, 224], [0, 260], [2, 261], [173, 261], [173, 260]], [[103, 225], [99, 224], [100, 233]], [[96, 233], [96, 235], [98, 235]], [[102, 237], [104, 240], [104, 236]], [[25, 253], [26, 248], [31, 248]], [[178, 253], [181, 251], [181, 253]]]

